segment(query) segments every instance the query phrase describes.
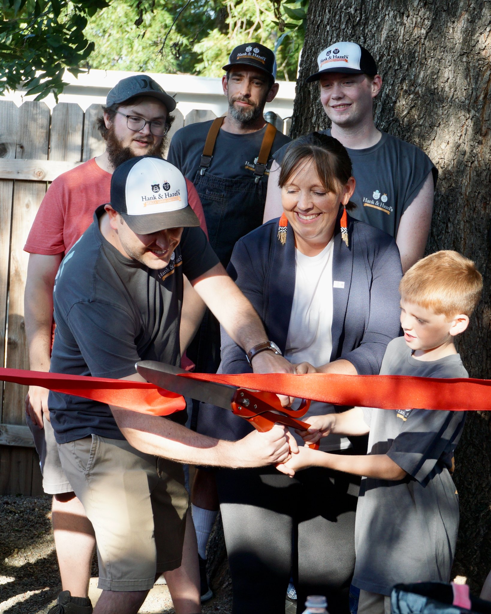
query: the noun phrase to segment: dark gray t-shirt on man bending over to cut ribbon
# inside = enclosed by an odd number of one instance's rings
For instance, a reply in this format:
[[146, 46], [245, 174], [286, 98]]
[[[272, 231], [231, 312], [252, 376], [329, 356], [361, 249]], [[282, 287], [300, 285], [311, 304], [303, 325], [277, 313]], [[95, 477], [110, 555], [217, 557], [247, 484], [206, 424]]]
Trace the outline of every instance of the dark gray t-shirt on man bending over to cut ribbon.
[[[53, 373], [123, 378], [139, 360], [179, 365], [183, 273], [196, 279], [218, 263], [201, 228], [185, 228], [171, 262], [152, 270], [123, 256], [94, 222], [61, 262], [53, 292], [56, 322]], [[124, 439], [109, 406], [50, 392], [58, 443], [92, 433]]]

